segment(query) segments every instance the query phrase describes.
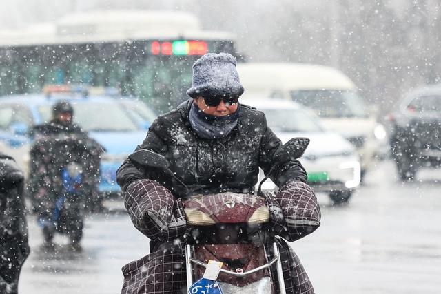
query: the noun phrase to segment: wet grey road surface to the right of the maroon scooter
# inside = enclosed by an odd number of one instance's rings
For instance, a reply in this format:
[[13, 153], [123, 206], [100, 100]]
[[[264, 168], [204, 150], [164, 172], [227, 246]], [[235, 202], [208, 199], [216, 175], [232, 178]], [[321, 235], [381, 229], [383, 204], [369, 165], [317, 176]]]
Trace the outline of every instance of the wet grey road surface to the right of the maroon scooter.
[[347, 207], [292, 245], [317, 293], [441, 293], [441, 172], [399, 182], [391, 162], [367, 175]]

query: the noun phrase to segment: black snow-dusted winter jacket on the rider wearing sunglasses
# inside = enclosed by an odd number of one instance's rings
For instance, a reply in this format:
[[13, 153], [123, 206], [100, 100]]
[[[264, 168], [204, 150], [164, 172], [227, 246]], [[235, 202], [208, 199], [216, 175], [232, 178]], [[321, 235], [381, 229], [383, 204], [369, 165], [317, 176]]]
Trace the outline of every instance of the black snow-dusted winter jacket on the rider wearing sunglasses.
[[[165, 156], [190, 193], [254, 191], [259, 167], [266, 174], [282, 145], [267, 127], [265, 114], [240, 105], [240, 118], [232, 132], [225, 138], [209, 140], [198, 137], [192, 130], [188, 120], [192, 103], [193, 99], [189, 99], [178, 109], [156, 118], [143, 144], [136, 150], [149, 149]], [[142, 178], [158, 181], [175, 196], [185, 196], [182, 185], [176, 180], [158, 170], [142, 170], [129, 159], [116, 172], [116, 180], [123, 191], [134, 180]], [[278, 187], [288, 180], [306, 182], [306, 172], [298, 160], [292, 160], [271, 176], [271, 180]]]

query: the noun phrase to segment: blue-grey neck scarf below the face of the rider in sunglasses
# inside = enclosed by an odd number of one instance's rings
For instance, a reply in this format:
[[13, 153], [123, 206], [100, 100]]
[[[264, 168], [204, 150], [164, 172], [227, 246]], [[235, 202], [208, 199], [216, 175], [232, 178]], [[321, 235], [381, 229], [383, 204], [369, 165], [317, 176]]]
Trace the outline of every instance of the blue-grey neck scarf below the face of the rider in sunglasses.
[[240, 116], [240, 105], [234, 114], [213, 116], [205, 114], [198, 105], [192, 103], [189, 112], [190, 125], [201, 138], [218, 139], [227, 136], [236, 127]]

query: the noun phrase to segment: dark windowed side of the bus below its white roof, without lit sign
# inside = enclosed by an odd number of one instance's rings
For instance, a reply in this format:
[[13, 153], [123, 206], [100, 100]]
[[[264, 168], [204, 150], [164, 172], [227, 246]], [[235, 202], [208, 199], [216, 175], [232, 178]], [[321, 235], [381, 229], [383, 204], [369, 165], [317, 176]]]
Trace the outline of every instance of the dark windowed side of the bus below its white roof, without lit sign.
[[[169, 42], [172, 44], [172, 42]], [[209, 51], [229, 52], [232, 43], [207, 42]], [[154, 55], [152, 41], [62, 44], [0, 48], [0, 95], [41, 92], [47, 84], [116, 87], [123, 95], [149, 101], [157, 109], [187, 98], [192, 65], [200, 55]], [[165, 52], [168, 54], [168, 52]], [[156, 99], [153, 99], [156, 98]]]

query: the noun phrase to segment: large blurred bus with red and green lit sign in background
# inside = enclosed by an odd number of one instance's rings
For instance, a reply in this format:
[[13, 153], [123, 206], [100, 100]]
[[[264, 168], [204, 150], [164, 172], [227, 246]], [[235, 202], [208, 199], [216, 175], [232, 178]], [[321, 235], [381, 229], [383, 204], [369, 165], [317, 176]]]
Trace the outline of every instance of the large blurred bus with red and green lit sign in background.
[[192, 63], [207, 52], [238, 55], [232, 34], [201, 30], [185, 12], [71, 14], [0, 30], [0, 96], [41, 92], [46, 84], [86, 84], [116, 87], [165, 110], [187, 98]]

